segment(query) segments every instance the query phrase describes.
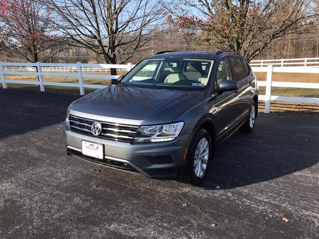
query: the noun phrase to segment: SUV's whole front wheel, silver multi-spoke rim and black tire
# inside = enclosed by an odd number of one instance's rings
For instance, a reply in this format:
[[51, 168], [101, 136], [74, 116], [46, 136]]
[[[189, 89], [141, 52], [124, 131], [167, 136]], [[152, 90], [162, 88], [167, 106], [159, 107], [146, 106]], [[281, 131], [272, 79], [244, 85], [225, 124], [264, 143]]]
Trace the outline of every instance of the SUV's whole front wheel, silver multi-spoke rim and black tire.
[[204, 181], [208, 163], [211, 157], [211, 139], [206, 129], [201, 128], [195, 135], [187, 160], [187, 170], [184, 181], [198, 185]]

